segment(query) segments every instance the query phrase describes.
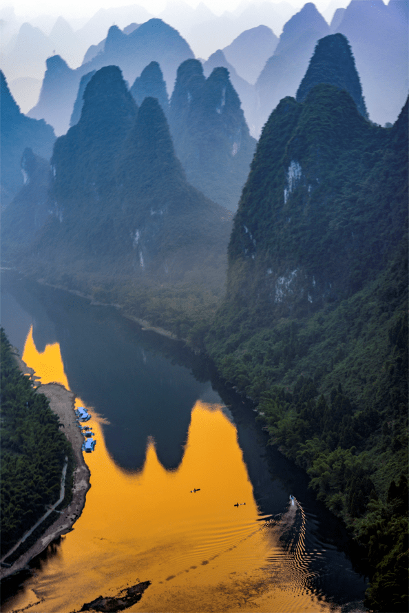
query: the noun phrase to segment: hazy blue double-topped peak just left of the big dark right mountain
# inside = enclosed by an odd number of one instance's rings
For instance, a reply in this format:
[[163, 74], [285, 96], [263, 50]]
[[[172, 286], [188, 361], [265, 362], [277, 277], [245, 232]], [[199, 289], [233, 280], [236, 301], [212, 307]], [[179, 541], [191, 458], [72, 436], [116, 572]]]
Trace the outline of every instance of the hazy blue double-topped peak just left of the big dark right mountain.
[[182, 63], [171, 96], [169, 125], [189, 183], [235, 211], [255, 141], [229, 72], [218, 67], [204, 79], [200, 62]]

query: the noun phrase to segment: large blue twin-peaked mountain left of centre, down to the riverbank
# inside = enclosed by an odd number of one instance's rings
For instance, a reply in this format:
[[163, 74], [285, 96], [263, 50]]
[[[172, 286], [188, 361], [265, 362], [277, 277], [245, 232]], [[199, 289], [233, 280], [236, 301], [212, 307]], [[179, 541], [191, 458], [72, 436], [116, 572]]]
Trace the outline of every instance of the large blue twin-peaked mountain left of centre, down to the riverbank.
[[48, 218], [25, 237], [21, 212], [32, 218], [34, 200], [32, 209], [23, 194], [12, 202], [3, 262], [178, 336], [209, 322], [224, 291], [233, 214], [187, 183], [158, 101], [144, 98], [138, 109], [119, 68], [101, 68], [51, 164]]

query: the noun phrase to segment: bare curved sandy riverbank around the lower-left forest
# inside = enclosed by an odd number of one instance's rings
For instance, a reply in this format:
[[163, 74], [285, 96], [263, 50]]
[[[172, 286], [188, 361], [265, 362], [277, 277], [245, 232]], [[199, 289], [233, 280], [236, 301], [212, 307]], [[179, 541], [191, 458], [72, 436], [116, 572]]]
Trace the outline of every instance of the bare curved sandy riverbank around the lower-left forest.
[[[28, 368], [18, 355], [16, 355], [16, 357], [21, 370], [25, 373], [31, 371], [30, 374], [33, 376], [34, 372], [32, 369]], [[33, 376], [33, 378], [35, 379], [35, 376]], [[6, 576], [10, 576], [25, 568], [28, 562], [45, 550], [52, 541], [62, 534], [70, 532], [74, 522], [81, 515], [85, 506], [87, 491], [90, 489], [90, 469], [87, 467], [87, 464], [85, 464], [83, 458], [83, 452], [81, 450], [83, 436], [76, 425], [76, 416], [74, 413], [75, 395], [58, 383], [40, 385], [38, 391], [39, 393], [45, 394], [45, 396], [50, 399], [50, 407], [52, 411], [59, 416], [59, 420], [62, 424], [61, 431], [70, 441], [72, 449], [74, 450], [75, 468], [72, 501], [70, 505], [63, 510], [59, 519], [54, 521], [52, 526], [47, 528], [36, 543], [34, 543], [25, 554], [19, 557], [10, 568], [0, 568], [0, 579], [4, 579]], [[30, 528], [30, 526], [28, 526], [28, 528]]]

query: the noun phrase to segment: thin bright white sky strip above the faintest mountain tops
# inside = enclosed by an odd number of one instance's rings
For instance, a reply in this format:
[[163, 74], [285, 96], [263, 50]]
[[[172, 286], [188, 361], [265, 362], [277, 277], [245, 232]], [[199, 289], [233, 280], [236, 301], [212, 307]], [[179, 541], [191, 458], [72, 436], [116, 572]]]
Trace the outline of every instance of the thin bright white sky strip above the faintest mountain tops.
[[[256, 0], [257, 1], [257, 0]], [[259, 0], [261, 1], [261, 0]], [[264, 0], [266, 1], [266, 0]], [[277, 4], [277, 0], [267, 0]], [[302, 7], [308, 0], [287, 0], [294, 7]], [[313, 0], [319, 11], [325, 10], [331, 0]], [[345, 0], [347, 6], [350, 0]], [[195, 8], [200, 0], [185, 0], [187, 4]], [[242, 0], [205, 0], [206, 4], [215, 14], [221, 14], [225, 10], [234, 10], [243, 3]], [[341, 2], [339, 2], [341, 3]], [[167, 5], [167, 0], [3, 0], [3, 8], [13, 6], [17, 15], [35, 17], [39, 14], [63, 15], [63, 17], [92, 17], [100, 8], [112, 8], [138, 4], [144, 6], [149, 12], [158, 14]]]

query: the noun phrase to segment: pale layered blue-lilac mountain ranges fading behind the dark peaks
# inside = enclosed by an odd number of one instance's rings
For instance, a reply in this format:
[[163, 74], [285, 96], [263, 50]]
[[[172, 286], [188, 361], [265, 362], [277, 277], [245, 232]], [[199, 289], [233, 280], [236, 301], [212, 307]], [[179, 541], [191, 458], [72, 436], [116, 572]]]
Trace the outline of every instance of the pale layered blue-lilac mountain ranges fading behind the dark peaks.
[[[409, 87], [408, 2], [391, 0], [386, 6], [382, 0], [352, 0], [347, 8], [335, 10], [336, 2], [332, 6], [333, 15], [331, 7], [326, 12], [331, 25], [311, 2], [298, 12], [286, 3], [249, 4], [220, 17], [203, 5], [193, 10], [181, 2], [163, 11], [161, 21], [149, 19], [149, 13], [137, 7], [100, 10], [75, 31], [59, 18], [48, 36], [25, 23], [8, 42], [3, 66], [17, 99], [31, 88], [28, 99], [34, 101], [46, 61], [41, 94], [29, 115], [45, 118], [57, 134], [63, 134], [85, 74], [103, 65], [118, 65], [131, 85], [156, 61], [171, 96], [178, 65], [196, 52], [207, 76], [214, 67], [227, 67], [251, 134], [258, 138], [280, 99], [295, 95], [317, 41], [339, 32], [355, 56], [370, 120], [393, 123]], [[193, 41], [193, 47], [187, 41]], [[61, 60], [52, 61], [55, 55]], [[70, 67], [78, 65], [80, 57], [82, 65]]]

